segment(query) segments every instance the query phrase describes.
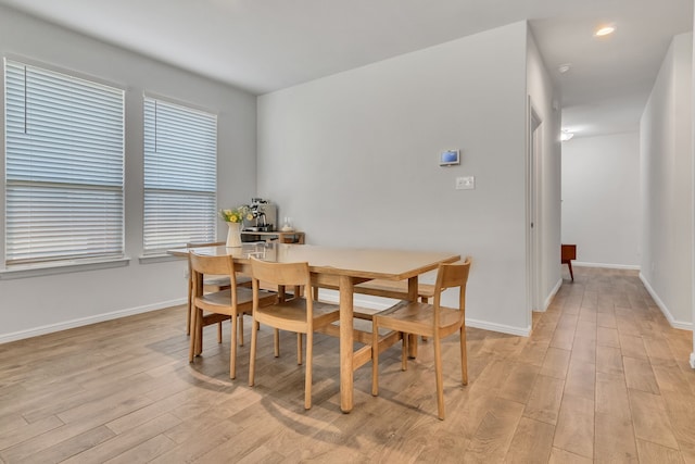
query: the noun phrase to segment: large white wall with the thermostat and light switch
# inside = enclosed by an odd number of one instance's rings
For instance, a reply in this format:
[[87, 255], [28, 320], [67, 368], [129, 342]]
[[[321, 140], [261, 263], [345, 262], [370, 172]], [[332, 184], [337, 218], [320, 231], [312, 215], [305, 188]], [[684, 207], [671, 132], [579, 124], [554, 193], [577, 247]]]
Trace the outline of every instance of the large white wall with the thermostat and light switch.
[[309, 243], [471, 255], [469, 324], [528, 334], [526, 43], [511, 24], [261, 97], [258, 195]]

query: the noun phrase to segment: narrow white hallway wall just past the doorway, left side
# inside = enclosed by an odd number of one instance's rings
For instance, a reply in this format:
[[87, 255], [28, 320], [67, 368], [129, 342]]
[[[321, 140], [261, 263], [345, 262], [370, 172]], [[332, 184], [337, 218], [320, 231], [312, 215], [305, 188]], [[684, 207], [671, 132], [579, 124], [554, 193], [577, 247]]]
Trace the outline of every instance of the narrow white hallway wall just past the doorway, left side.
[[563, 281], [560, 273], [560, 111], [559, 96], [529, 29], [527, 45], [527, 88], [533, 111], [542, 120], [539, 127], [542, 141], [535, 163], [538, 214], [534, 221], [539, 237], [538, 273], [540, 300], [535, 310], [544, 311]]

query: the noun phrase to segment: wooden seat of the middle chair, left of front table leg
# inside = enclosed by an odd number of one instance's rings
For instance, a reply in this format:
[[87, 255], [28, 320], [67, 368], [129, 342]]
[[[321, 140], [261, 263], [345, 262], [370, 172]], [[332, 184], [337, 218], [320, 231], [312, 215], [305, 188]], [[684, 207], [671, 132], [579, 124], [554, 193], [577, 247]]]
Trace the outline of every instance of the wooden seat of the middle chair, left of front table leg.
[[[294, 298], [286, 302], [278, 302], [270, 306], [258, 308], [255, 318], [271, 327], [281, 326], [287, 330], [305, 334], [306, 303], [301, 298]], [[333, 323], [340, 319], [340, 309], [337, 304], [314, 302], [314, 328]], [[288, 325], [289, 324], [289, 325]]]

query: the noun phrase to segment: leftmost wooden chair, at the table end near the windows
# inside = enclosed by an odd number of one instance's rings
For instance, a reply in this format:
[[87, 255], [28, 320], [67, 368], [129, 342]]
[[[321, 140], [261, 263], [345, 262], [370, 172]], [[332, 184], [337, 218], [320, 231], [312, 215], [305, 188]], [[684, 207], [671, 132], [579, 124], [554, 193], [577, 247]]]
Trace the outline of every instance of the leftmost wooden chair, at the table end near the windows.
[[[208, 256], [189, 252], [189, 265], [193, 280], [193, 336], [191, 337], [188, 360], [203, 350], [203, 327], [222, 323], [231, 318], [231, 347], [229, 349], [229, 377], [237, 376], [237, 330], [239, 331], [239, 344], [243, 346], [243, 315], [251, 314], [254, 294], [251, 289], [240, 287], [237, 284], [233, 259], [228, 255]], [[226, 290], [206, 293], [203, 291], [205, 275], [224, 275], [230, 281]], [[273, 304], [277, 300], [275, 293], [258, 291], [255, 294], [258, 305]], [[203, 311], [211, 314], [203, 315]], [[255, 328], [255, 324], [252, 326]], [[255, 334], [256, 330], [252, 329]]]

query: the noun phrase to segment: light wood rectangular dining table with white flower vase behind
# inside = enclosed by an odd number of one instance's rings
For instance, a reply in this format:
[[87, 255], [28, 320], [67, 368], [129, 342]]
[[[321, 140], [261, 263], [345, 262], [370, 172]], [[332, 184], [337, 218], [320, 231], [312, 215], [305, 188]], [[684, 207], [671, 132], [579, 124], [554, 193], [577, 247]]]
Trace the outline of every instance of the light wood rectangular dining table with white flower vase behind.
[[416, 301], [418, 276], [439, 267], [440, 263], [458, 261], [450, 252], [369, 248], [340, 248], [288, 243], [243, 243], [241, 247], [204, 247], [169, 250], [186, 256], [189, 251], [208, 255], [231, 255], [238, 271], [250, 274], [250, 259], [278, 263], [307, 262], [316, 286], [338, 287], [340, 292], [340, 407], [353, 409], [353, 374], [371, 360], [371, 347], [354, 349], [354, 286], [371, 279], [408, 280], [408, 299]]

